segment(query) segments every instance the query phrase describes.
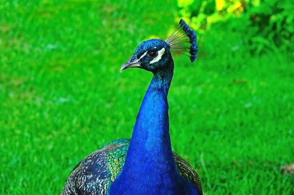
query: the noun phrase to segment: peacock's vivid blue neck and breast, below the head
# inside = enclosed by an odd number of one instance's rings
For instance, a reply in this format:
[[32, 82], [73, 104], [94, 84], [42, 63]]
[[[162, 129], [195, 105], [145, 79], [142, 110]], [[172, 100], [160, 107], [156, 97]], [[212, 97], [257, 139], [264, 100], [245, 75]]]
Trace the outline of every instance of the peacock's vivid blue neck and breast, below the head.
[[[109, 195], [183, 194], [169, 133], [168, 92], [173, 61], [168, 70], [154, 73], [143, 99], [122, 172], [111, 184]], [[183, 190], [182, 190], [183, 189]]]

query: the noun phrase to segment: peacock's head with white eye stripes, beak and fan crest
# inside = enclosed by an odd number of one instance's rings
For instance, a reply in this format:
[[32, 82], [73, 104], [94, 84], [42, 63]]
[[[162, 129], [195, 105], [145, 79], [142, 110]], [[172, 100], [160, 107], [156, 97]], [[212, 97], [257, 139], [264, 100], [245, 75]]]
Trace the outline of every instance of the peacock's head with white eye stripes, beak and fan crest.
[[180, 20], [178, 26], [166, 41], [150, 39], [142, 42], [133, 56], [123, 64], [121, 71], [128, 68], [141, 68], [152, 73], [167, 68], [172, 61], [171, 50], [190, 57], [191, 62], [196, 59], [198, 51], [196, 34], [184, 20]]

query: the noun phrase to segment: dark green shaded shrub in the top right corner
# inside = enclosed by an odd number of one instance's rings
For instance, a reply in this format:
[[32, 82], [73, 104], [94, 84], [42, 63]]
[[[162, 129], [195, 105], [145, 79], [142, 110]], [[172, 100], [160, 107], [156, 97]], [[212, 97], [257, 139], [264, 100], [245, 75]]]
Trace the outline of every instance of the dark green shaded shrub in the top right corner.
[[252, 7], [246, 16], [250, 15], [252, 49], [257, 53], [270, 49], [278, 53], [276, 48], [294, 51], [294, 1], [264, 0], [259, 6]]

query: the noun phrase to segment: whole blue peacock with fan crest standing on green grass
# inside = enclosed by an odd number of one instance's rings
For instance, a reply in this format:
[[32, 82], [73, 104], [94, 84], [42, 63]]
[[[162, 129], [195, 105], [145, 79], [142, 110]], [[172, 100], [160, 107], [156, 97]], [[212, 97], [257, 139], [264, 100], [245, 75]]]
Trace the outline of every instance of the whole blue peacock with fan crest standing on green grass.
[[117, 139], [80, 161], [61, 195], [202, 195], [194, 169], [172, 151], [168, 92], [174, 63], [171, 50], [196, 59], [196, 34], [184, 20], [166, 41], [142, 42], [121, 71], [140, 68], [153, 77], [131, 139]]

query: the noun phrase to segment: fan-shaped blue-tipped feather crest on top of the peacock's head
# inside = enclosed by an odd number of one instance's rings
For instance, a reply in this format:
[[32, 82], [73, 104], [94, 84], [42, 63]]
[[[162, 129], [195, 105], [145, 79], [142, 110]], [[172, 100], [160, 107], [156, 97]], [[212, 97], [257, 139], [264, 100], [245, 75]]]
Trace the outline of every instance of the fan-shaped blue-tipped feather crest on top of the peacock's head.
[[[178, 26], [173, 30], [172, 34], [166, 40], [170, 45], [171, 50], [182, 53], [190, 57], [191, 62], [196, 59], [198, 47], [196, 44], [197, 36], [194, 30], [191, 30], [189, 25], [181, 19]], [[189, 43], [189, 45], [187, 45]], [[190, 53], [190, 55], [187, 54]]]

